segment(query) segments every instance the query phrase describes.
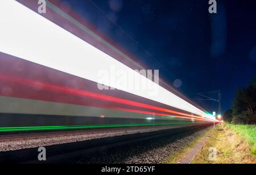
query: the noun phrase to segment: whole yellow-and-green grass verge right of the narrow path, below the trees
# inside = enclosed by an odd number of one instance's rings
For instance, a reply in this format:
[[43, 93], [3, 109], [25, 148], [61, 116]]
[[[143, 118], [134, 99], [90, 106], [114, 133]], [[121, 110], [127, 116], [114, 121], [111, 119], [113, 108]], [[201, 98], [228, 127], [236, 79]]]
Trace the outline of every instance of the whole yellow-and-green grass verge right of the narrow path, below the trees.
[[[218, 125], [192, 163], [255, 164], [256, 155], [251, 151], [255, 128], [256, 126]], [[216, 159], [209, 160], [210, 147], [216, 148]]]

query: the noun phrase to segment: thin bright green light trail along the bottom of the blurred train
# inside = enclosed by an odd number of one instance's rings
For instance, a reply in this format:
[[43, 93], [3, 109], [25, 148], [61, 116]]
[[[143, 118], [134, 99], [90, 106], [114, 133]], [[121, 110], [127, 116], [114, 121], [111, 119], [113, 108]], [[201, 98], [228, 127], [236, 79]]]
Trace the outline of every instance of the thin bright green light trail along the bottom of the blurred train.
[[70, 126], [23, 126], [23, 127], [0, 127], [0, 132], [8, 131], [40, 131], [40, 130], [66, 130], [66, 129], [93, 129], [104, 127], [129, 127], [129, 126], [154, 126], [154, 125], [185, 125], [191, 122], [177, 123], [144, 123], [144, 124], [117, 124], [117, 125], [70, 125]]

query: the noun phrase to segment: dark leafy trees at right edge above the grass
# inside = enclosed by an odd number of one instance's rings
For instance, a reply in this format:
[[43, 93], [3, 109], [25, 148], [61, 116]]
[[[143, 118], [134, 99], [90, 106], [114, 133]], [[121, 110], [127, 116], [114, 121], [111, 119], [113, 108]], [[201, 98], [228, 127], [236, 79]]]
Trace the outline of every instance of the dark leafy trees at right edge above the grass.
[[256, 124], [256, 79], [248, 87], [237, 89], [232, 109], [227, 110], [223, 118], [234, 124]]

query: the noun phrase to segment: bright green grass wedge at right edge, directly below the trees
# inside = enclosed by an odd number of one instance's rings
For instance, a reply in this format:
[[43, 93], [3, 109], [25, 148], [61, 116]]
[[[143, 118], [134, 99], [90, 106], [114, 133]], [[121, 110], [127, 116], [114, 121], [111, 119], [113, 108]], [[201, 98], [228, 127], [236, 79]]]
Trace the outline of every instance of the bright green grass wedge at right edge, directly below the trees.
[[253, 147], [253, 153], [256, 154], [256, 125], [226, 125], [237, 134], [240, 134], [243, 138], [245, 138], [248, 144]]

